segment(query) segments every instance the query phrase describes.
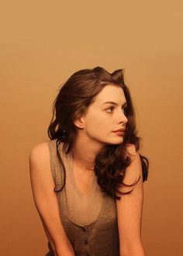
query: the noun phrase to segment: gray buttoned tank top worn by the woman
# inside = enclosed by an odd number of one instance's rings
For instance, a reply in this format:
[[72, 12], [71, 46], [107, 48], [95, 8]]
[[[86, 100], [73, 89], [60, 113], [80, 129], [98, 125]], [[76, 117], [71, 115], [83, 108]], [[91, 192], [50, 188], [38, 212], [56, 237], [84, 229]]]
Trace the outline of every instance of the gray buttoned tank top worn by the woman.
[[[56, 140], [48, 140], [50, 167], [56, 189], [64, 182], [64, 173], [57, 157]], [[66, 184], [57, 192], [60, 220], [71, 240], [75, 256], [119, 256], [119, 232], [116, 201], [105, 195], [96, 177], [88, 195], [82, 195], [74, 182], [71, 154], [65, 154], [62, 144], [60, 156], [66, 168]], [[47, 256], [54, 256], [50, 247]]]

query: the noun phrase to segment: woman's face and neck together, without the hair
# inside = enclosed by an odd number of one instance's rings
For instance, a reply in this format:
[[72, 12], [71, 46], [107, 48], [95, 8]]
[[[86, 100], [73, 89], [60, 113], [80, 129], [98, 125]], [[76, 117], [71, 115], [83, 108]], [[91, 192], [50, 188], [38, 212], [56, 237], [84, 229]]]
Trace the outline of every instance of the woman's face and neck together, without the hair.
[[[123, 143], [123, 136], [114, 131], [126, 126], [128, 120], [124, 114], [125, 104], [123, 89], [106, 85], [97, 95], [95, 102], [88, 107], [85, 115], [75, 120], [78, 137], [71, 151], [75, 163], [78, 163], [80, 168], [93, 168], [95, 155], [105, 145]], [[87, 145], [87, 148], [84, 145]]]

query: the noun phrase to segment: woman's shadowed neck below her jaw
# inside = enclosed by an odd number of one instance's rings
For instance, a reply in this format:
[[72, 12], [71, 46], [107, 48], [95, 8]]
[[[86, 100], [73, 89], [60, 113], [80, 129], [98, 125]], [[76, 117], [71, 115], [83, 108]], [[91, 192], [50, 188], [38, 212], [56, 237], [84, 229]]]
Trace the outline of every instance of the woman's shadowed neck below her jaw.
[[93, 170], [95, 157], [104, 147], [103, 144], [78, 134], [77, 139], [71, 149], [72, 158], [75, 166], [85, 171]]

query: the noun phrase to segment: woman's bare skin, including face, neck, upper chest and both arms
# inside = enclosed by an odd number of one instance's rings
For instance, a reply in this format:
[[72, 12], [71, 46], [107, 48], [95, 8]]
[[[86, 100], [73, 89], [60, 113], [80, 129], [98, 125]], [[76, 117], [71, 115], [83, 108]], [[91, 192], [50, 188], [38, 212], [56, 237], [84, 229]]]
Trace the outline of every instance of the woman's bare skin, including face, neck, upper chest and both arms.
[[[105, 102], [115, 102], [106, 103]], [[95, 102], [89, 106], [85, 115], [74, 121], [78, 127], [78, 136], [71, 150], [74, 161], [74, 178], [82, 192], [87, 192], [85, 183], [91, 178], [95, 155], [106, 144], [122, 144], [123, 136], [113, 133], [126, 126], [124, 114], [126, 99], [123, 89], [115, 85], [106, 85]], [[85, 147], [87, 145], [87, 147]], [[133, 186], [133, 192], [116, 201], [120, 255], [144, 256], [140, 239], [141, 216], [143, 206], [143, 182], [140, 155], [133, 145], [128, 147], [132, 163], [126, 168], [124, 182], [133, 183], [140, 176], [140, 181]], [[43, 227], [54, 254], [74, 256], [71, 242], [60, 222], [57, 195], [54, 193], [54, 180], [50, 170], [50, 153], [47, 143], [33, 148], [29, 156], [30, 179], [36, 208], [40, 213]], [[132, 188], [130, 188], [132, 189]], [[121, 188], [120, 191], [127, 191]], [[50, 211], [51, 209], [51, 211]]]

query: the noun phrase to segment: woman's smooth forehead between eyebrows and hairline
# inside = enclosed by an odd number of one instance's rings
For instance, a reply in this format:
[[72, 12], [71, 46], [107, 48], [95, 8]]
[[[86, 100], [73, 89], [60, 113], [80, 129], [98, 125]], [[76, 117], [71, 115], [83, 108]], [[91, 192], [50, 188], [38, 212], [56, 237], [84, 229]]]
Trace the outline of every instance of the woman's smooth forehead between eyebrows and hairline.
[[105, 85], [95, 98], [95, 103], [102, 104], [103, 102], [116, 102], [119, 104], [126, 102], [123, 88], [117, 85]]

